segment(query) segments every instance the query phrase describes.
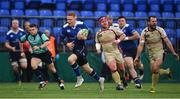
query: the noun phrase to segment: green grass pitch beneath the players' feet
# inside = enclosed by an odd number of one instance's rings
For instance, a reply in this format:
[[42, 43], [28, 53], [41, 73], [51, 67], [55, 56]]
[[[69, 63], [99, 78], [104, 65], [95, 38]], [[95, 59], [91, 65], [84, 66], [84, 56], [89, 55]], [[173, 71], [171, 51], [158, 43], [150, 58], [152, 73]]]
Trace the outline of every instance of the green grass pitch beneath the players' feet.
[[114, 83], [105, 83], [104, 92], [100, 92], [98, 83], [83, 83], [79, 88], [65, 83], [65, 90], [56, 83], [48, 83], [43, 90], [38, 90], [38, 83], [0, 83], [0, 98], [180, 98], [179, 83], [159, 83], [156, 93], [149, 93], [150, 86], [143, 83], [142, 89], [135, 89], [130, 84], [124, 91], [116, 91]]

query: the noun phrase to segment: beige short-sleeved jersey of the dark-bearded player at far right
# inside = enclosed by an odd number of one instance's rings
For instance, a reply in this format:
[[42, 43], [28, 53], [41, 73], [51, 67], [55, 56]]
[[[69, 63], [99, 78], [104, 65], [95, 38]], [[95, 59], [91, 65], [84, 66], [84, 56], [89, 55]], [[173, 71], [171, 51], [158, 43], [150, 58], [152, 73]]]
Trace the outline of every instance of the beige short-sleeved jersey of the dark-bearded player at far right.
[[140, 43], [145, 43], [148, 51], [162, 51], [162, 39], [165, 37], [167, 35], [163, 28], [157, 26], [154, 31], [149, 31], [148, 27], [146, 27], [141, 33]]

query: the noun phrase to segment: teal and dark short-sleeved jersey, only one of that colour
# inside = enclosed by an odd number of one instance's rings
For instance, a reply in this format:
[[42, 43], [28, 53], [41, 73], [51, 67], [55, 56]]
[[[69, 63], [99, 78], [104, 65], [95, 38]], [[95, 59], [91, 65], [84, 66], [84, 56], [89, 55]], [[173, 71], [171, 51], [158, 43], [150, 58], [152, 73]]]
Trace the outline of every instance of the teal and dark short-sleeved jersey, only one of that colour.
[[[49, 38], [44, 33], [38, 32], [36, 35], [31, 35], [31, 34], [23, 35], [20, 38], [20, 40], [21, 42], [24, 42], [27, 40], [29, 44], [31, 45], [31, 48], [33, 48], [34, 46], [41, 46], [44, 42], [49, 41]], [[40, 54], [46, 51], [48, 51], [48, 48], [44, 47], [38, 50], [33, 50], [33, 53]]]

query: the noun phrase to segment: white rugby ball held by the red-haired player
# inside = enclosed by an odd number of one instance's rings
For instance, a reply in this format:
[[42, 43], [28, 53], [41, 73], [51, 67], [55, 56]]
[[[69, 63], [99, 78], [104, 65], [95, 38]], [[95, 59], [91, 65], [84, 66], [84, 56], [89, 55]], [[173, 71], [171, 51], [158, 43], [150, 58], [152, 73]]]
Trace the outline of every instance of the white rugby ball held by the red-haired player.
[[81, 29], [77, 34], [78, 40], [86, 40], [87, 36], [88, 36], [88, 30], [87, 29]]

